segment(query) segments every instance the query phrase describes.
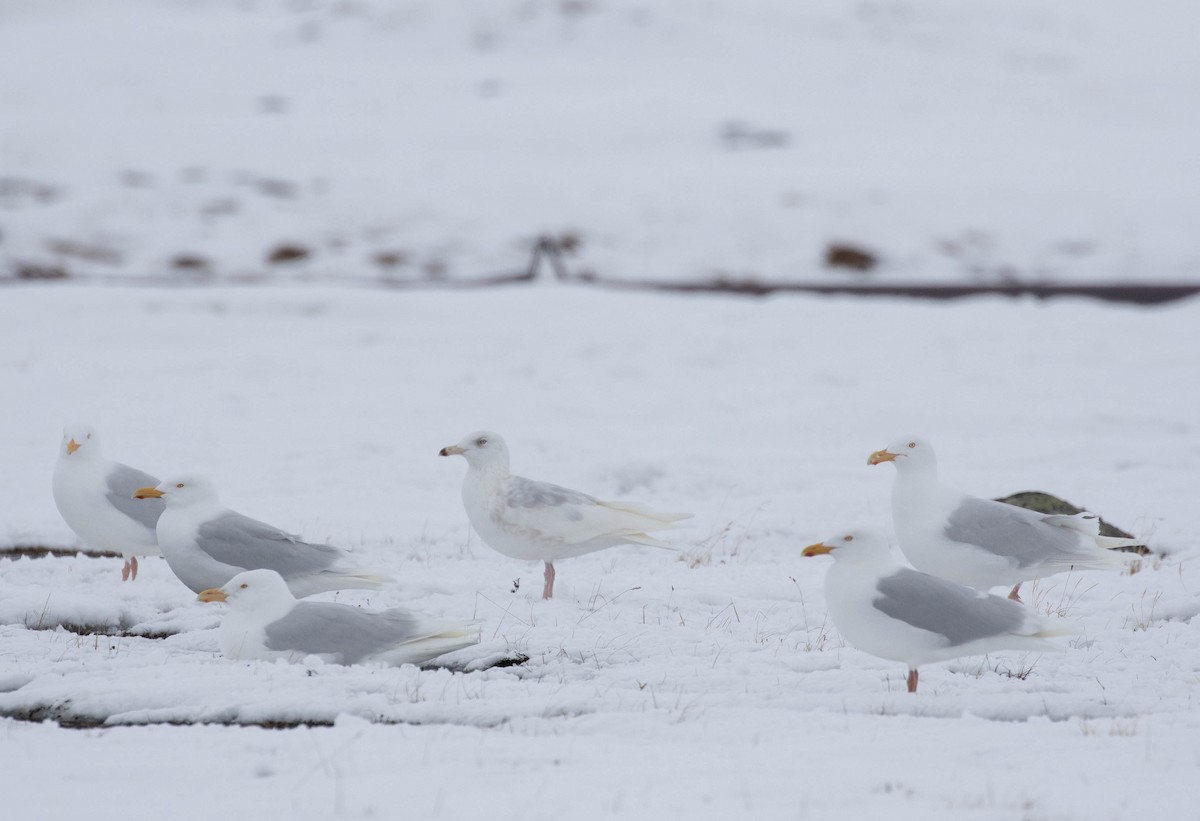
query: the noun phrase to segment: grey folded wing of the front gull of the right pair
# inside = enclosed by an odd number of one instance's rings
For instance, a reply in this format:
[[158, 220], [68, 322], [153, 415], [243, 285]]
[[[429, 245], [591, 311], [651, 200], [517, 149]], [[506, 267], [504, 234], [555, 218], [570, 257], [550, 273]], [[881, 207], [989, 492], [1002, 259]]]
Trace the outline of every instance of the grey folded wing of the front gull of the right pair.
[[1015, 601], [901, 568], [876, 585], [876, 610], [912, 627], [944, 636], [947, 647], [1014, 633], [1027, 611]]

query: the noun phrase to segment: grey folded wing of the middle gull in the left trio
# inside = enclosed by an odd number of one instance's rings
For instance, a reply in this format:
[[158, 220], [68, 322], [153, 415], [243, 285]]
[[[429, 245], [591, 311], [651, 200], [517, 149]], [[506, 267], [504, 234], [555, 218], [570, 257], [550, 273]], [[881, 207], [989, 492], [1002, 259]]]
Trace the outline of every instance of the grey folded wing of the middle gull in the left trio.
[[328, 570], [342, 557], [332, 545], [301, 541], [234, 510], [202, 523], [196, 540], [217, 562], [235, 568], [269, 568], [284, 579]]

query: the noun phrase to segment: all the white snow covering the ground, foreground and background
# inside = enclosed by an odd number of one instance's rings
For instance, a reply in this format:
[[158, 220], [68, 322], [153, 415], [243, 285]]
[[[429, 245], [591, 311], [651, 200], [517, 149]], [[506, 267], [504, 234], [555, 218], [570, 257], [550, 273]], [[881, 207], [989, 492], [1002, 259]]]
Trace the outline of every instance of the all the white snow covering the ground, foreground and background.
[[[643, 281], [1193, 280], [1198, 25], [1182, 0], [0, 4], [5, 807], [1190, 816], [1200, 301], [365, 286], [521, 271], [545, 236]], [[878, 268], [826, 268], [832, 242]], [[161, 558], [122, 583], [72, 552], [74, 420], [397, 580], [318, 598], [482, 643], [427, 670], [221, 658], [221, 607]], [[695, 519], [674, 550], [563, 562], [542, 601], [437, 456], [479, 429], [518, 474]], [[1153, 553], [1024, 588], [1084, 625], [1062, 652], [929, 665], [910, 695], [799, 556], [890, 532], [866, 456], [907, 433], [948, 484], [1052, 492]]]

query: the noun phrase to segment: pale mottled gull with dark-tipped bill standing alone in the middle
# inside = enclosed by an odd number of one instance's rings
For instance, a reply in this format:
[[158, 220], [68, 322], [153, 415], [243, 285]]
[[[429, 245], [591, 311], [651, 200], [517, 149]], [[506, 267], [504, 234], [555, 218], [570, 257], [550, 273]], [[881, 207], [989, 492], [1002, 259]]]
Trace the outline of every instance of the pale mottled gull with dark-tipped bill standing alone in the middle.
[[578, 491], [509, 473], [509, 448], [478, 431], [443, 456], [467, 460], [462, 503], [479, 537], [497, 552], [545, 562], [542, 598], [554, 595], [554, 562], [613, 545], [667, 547], [648, 531], [676, 527], [691, 514], [662, 514], [631, 502], [601, 502]]

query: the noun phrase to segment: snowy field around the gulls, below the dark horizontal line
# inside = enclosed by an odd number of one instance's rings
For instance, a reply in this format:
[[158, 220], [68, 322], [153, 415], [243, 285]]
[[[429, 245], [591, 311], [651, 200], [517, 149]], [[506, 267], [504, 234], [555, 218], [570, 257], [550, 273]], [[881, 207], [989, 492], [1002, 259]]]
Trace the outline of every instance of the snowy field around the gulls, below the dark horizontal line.
[[[0, 540], [78, 543], [60, 429], [209, 474], [229, 505], [397, 582], [343, 601], [482, 622], [480, 672], [236, 663], [161, 559], [0, 561], [0, 772], [29, 819], [1186, 819], [1200, 804], [1200, 302], [736, 300], [19, 287], [0, 299]], [[466, 465], [690, 510], [677, 550], [541, 568], [469, 531]], [[1064, 652], [902, 665], [844, 646], [827, 562], [890, 531], [918, 432], [979, 495], [1054, 492], [1147, 537], [1026, 589]], [[335, 598], [326, 594], [324, 598]], [[66, 625], [66, 627], [64, 627]], [[180, 724], [205, 723], [190, 726]], [[304, 724], [293, 729], [229, 726]], [[332, 726], [325, 726], [331, 723]], [[128, 726], [133, 725], [133, 726]]]

